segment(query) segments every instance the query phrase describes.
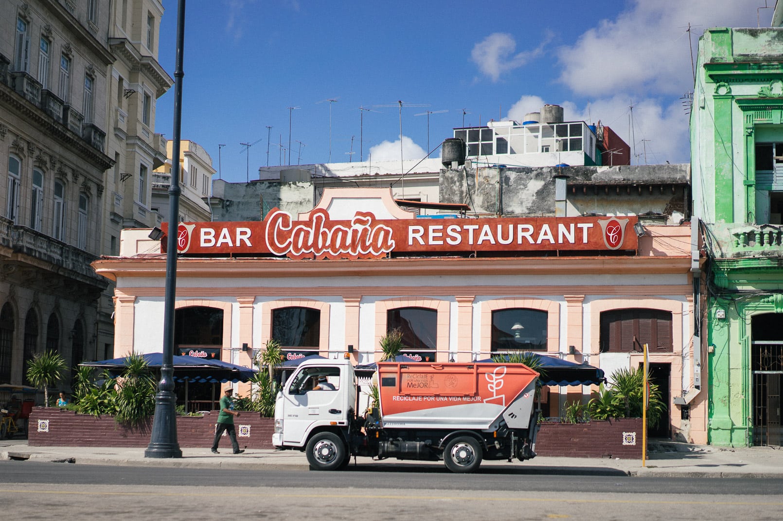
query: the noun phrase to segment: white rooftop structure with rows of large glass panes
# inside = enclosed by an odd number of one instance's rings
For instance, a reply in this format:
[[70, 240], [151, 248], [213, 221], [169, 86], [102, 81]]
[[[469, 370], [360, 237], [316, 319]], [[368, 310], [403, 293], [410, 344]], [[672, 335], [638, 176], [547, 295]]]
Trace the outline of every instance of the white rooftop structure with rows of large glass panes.
[[507, 167], [600, 164], [595, 128], [583, 121], [490, 121], [486, 127], [455, 128], [454, 137], [467, 143], [467, 158], [474, 163], [503, 163]]

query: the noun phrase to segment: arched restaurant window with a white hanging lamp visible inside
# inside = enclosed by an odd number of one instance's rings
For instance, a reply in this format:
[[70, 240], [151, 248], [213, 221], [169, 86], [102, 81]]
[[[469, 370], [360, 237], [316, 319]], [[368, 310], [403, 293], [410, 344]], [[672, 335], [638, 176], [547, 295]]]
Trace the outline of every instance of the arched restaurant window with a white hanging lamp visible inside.
[[493, 311], [491, 350], [547, 350], [547, 319], [547, 311], [524, 307]]

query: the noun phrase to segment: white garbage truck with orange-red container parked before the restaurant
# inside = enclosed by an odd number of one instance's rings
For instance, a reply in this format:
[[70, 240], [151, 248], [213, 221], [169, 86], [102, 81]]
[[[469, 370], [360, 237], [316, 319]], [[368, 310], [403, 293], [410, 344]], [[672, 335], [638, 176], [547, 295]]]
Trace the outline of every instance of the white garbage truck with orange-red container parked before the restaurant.
[[343, 469], [351, 458], [442, 461], [473, 472], [482, 460], [536, 456], [539, 373], [516, 363], [378, 362], [378, 407], [359, 413], [349, 360], [309, 360], [283, 383], [272, 444], [305, 451], [310, 468]]

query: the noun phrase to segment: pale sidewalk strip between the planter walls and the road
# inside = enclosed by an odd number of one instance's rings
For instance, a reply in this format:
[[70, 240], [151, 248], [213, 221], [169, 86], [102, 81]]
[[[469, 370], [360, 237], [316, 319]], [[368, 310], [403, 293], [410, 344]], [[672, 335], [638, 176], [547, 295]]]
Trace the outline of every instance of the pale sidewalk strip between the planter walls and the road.
[[[222, 447], [221, 454], [211, 454], [209, 447], [182, 449], [182, 458], [145, 458], [143, 448], [121, 447], [31, 447], [27, 440], [0, 440], [0, 460], [32, 462], [68, 462], [78, 465], [128, 465], [150, 467], [194, 467], [220, 469], [288, 469], [308, 470], [305, 455], [299, 451], [247, 450], [231, 454]], [[382, 469], [384, 465], [431, 465], [438, 462], [380, 462], [356, 458], [358, 465]], [[352, 463], [353, 465], [353, 463]], [[783, 478], [783, 449], [778, 447], [713, 447], [674, 442], [652, 443], [646, 465], [635, 459], [608, 458], [533, 458], [527, 462], [482, 462], [485, 472], [493, 469], [518, 470], [530, 474], [578, 476], [661, 476], [661, 477], [754, 477]]]

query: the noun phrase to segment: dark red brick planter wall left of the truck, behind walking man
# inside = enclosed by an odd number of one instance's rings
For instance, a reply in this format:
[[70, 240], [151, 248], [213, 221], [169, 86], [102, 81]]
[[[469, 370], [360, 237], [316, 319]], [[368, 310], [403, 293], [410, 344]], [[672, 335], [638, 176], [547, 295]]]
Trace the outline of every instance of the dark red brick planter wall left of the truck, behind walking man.
[[[208, 448], [215, 437], [218, 411], [204, 416], [177, 416], [177, 439], [182, 448]], [[271, 449], [275, 420], [244, 412], [234, 419], [240, 447]], [[134, 429], [117, 425], [113, 416], [96, 418], [59, 408], [36, 407], [30, 415], [27, 443], [59, 447], [146, 447], [150, 444], [152, 419]], [[225, 434], [220, 447], [231, 447]]]

